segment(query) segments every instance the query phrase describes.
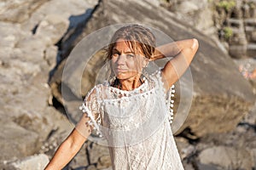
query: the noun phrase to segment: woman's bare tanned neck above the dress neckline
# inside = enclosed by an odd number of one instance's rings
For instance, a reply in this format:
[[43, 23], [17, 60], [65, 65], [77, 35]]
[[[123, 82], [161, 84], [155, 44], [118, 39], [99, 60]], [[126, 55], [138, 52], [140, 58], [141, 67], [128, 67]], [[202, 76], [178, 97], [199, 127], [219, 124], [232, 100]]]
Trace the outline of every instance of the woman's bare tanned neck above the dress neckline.
[[119, 80], [119, 88], [129, 91], [133, 90], [134, 88], [138, 88], [140, 85], [142, 85], [142, 83], [143, 82], [140, 80], [140, 75], [137, 75], [136, 77]]

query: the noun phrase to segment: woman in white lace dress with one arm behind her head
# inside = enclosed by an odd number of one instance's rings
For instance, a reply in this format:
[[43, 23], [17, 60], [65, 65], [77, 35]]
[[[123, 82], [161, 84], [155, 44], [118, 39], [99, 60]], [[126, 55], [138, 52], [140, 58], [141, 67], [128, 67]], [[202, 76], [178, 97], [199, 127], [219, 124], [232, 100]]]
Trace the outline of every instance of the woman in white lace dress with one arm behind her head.
[[[113, 169], [183, 169], [169, 123], [173, 100], [170, 104], [168, 99], [198, 42], [154, 47], [154, 34], [144, 26], [124, 26], [114, 33], [107, 53], [113, 77], [87, 94], [84, 115], [45, 169], [65, 167], [93, 129], [108, 141]], [[150, 61], [165, 57], [174, 59], [153, 74], [145, 71]]]

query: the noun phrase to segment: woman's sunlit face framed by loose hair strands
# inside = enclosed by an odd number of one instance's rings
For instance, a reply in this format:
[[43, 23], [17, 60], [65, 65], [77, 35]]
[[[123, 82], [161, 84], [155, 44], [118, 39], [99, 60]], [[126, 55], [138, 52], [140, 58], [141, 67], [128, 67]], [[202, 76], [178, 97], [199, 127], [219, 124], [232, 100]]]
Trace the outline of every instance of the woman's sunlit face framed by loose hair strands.
[[143, 66], [147, 64], [147, 59], [140, 49], [137, 54], [129, 47], [129, 43], [124, 39], [119, 39], [112, 51], [111, 65], [114, 75], [119, 79], [129, 79], [141, 75]]

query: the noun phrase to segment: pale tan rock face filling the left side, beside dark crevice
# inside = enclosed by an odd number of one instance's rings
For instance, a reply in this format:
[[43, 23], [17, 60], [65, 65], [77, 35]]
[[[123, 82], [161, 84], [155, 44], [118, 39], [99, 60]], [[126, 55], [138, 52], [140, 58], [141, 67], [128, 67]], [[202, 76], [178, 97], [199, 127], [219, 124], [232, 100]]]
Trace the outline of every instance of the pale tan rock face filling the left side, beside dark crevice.
[[14, 157], [43, 150], [52, 134], [67, 137], [72, 130], [66, 116], [52, 107], [47, 82], [56, 64], [55, 43], [68, 28], [83, 22], [88, 17], [84, 10], [94, 5], [96, 1], [82, 0], [0, 3], [0, 169]]

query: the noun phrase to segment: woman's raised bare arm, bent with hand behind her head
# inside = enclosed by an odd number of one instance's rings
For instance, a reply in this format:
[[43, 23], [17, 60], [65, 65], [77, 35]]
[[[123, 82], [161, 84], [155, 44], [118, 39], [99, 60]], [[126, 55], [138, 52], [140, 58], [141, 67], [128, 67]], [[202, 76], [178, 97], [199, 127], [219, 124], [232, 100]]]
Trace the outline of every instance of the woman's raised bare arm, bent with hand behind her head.
[[153, 58], [150, 60], [174, 57], [162, 69], [162, 77], [166, 90], [177, 82], [188, 69], [198, 47], [198, 41], [193, 38], [167, 43], [156, 48]]

